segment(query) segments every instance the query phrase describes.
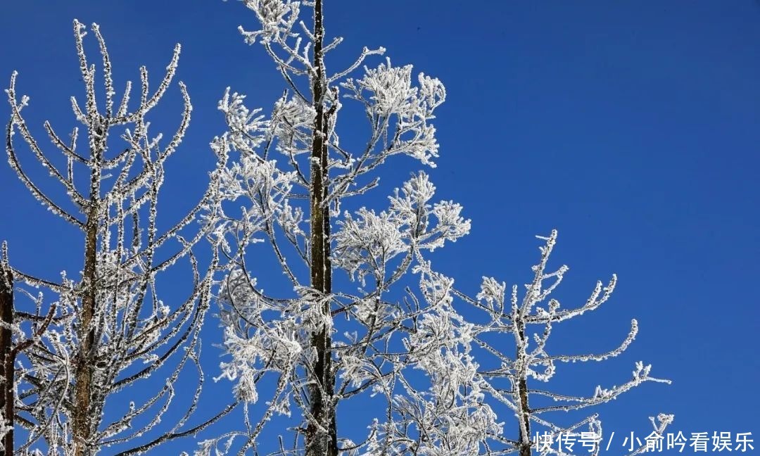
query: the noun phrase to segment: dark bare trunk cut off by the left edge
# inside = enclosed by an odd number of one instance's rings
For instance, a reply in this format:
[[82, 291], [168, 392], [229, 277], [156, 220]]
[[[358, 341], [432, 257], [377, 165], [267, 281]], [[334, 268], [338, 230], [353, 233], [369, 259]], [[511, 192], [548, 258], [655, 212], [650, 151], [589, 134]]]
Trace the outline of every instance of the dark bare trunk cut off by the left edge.
[[0, 426], [10, 426], [11, 430], [2, 438], [2, 448], [0, 456], [11, 456], [13, 454], [13, 426], [14, 426], [14, 358], [15, 350], [11, 347], [13, 343], [11, 325], [13, 325], [13, 273], [8, 264], [5, 264], [5, 258], [0, 258], [0, 353], [2, 353], [2, 363], [0, 363], [0, 410], [2, 410], [5, 423]]

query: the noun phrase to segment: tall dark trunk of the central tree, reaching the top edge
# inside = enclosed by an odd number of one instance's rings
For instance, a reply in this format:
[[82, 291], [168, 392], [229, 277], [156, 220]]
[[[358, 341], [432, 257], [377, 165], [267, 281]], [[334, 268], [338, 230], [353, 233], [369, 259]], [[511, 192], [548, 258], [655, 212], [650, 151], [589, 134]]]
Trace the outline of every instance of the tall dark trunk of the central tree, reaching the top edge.
[[[328, 125], [325, 113], [325, 63], [322, 46], [325, 29], [322, 24], [322, 0], [314, 5], [314, 66], [312, 76], [312, 103], [316, 112], [311, 154], [311, 282], [320, 295], [331, 293], [332, 266], [330, 264], [330, 212], [325, 204], [328, 196]], [[321, 305], [325, 318], [331, 318], [330, 302]], [[312, 385], [309, 386], [309, 413], [318, 422], [310, 420], [306, 427], [306, 456], [337, 456], [337, 427], [333, 392], [335, 375], [331, 363], [331, 328], [322, 326], [312, 334], [312, 347], [316, 350]], [[326, 429], [325, 432], [323, 429]]]

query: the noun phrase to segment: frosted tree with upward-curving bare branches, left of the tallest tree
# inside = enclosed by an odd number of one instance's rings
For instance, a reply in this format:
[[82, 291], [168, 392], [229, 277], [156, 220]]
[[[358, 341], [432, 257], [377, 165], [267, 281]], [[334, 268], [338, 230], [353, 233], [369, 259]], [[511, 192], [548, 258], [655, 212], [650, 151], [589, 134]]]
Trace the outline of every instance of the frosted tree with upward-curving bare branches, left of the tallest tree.
[[[15, 72], [6, 90], [11, 106], [7, 129], [11, 168], [43, 206], [81, 233], [81, 250], [72, 247], [82, 261], [80, 273], [64, 272], [59, 280], [46, 280], [12, 269], [17, 291], [37, 309], [32, 314], [14, 310], [23, 317], [19, 321], [26, 318], [33, 327], [39, 326], [40, 309], [52, 309], [49, 328], [39, 334], [30, 333], [28, 325], [12, 327], [16, 339], [24, 334], [35, 337], [14, 369], [14, 414], [16, 423], [26, 428], [25, 442], [17, 443], [21, 454], [85, 456], [112, 445], [119, 454], [139, 453], [196, 432], [217, 418], [188, 425], [203, 380], [198, 331], [209, 306], [217, 261], [211, 258], [211, 267], [204, 269], [191, 250], [206, 233], [202, 226], [192, 229], [202, 204], [166, 230], [157, 226], [164, 165], [182, 141], [192, 111], [184, 84], [179, 83], [184, 103], [179, 128], [168, 140], [149, 131], [150, 111], [172, 85], [180, 48], [174, 49], [154, 90], [142, 67], [138, 103], [130, 101], [130, 82], [115, 103], [106, 43], [97, 24], [91, 30], [100, 48], [102, 93], [96, 90], [101, 73], [85, 55], [85, 27], [74, 20], [85, 100], [81, 105], [71, 97], [71, 107], [84, 126], [84, 141], [79, 141], [79, 128], [65, 138], [45, 122], [49, 140], [62, 156], [44, 151], [22, 116], [29, 98], [17, 97]], [[22, 166], [26, 159], [13, 141], [16, 135], [57, 182], [60, 194], [33, 182], [34, 174]], [[80, 142], [84, 147], [79, 147]], [[157, 276], [184, 262], [188, 295], [178, 298], [174, 291], [164, 302]], [[10, 289], [11, 267], [5, 266]], [[34, 295], [24, 284], [46, 291]], [[197, 370], [195, 387], [193, 370]], [[173, 407], [173, 398], [181, 374], [182, 382], [191, 384], [183, 383], [183, 388], [195, 388], [195, 394], [178, 408]], [[161, 380], [147, 380], [157, 375]], [[159, 426], [168, 410], [173, 410], [172, 420]]]

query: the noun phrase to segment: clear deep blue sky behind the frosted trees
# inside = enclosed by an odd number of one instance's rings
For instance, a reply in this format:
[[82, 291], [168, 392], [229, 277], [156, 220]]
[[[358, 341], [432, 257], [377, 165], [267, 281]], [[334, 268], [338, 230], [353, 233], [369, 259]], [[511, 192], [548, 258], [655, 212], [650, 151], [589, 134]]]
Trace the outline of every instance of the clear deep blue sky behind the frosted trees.
[[[430, 174], [441, 198], [464, 205], [473, 230], [436, 257], [439, 268], [473, 293], [482, 275], [524, 283], [537, 259], [533, 236], [557, 228], [553, 258], [571, 267], [565, 306], [581, 304], [595, 280], [619, 275], [613, 299], [568, 329], [568, 350], [610, 349], [635, 317], [638, 340], [605, 375], [622, 382], [644, 359], [673, 380], [604, 407], [607, 429], [646, 429], [646, 416], [664, 411], [685, 434], [758, 432], [760, 3], [480, 3], [330, 0], [325, 11], [328, 34], [345, 38], [336, 65], [362, 46], [385, 46], [394, 64], [412, 63], [446, 85], [435, 121], [441, 158]], [[223, 131], [216, 103], [224, 88], [264, 112], [282, 93], [274, 65], [236, 30], [255, 27], [255, 17], [213, 0], [8, 2], [0, 81], [19, 71], [40, 141], [43, 119], [73, 125], [68, 97], [82, 92], [74, 17], [102, 27], [117, 87], [138, 80], [143, 64], [158, 78], [182, 43], [178, 78], [195, 109], [163, 192], [167, 215], [179, 216], [213, 165], [207, 144]], [[161, 112], [160, 128], [174, 128], [179, 111]], [[7, 165], [0, 189], [0, 239], [14, 264], [48, 277], [78, 271], [79, 258], [68, 255], [77, 233]], [[205, 350], [209, 376], [217, 375], [213, 350]], [[563, 378], [597, 383], [560, 373], [558, 388]]]

